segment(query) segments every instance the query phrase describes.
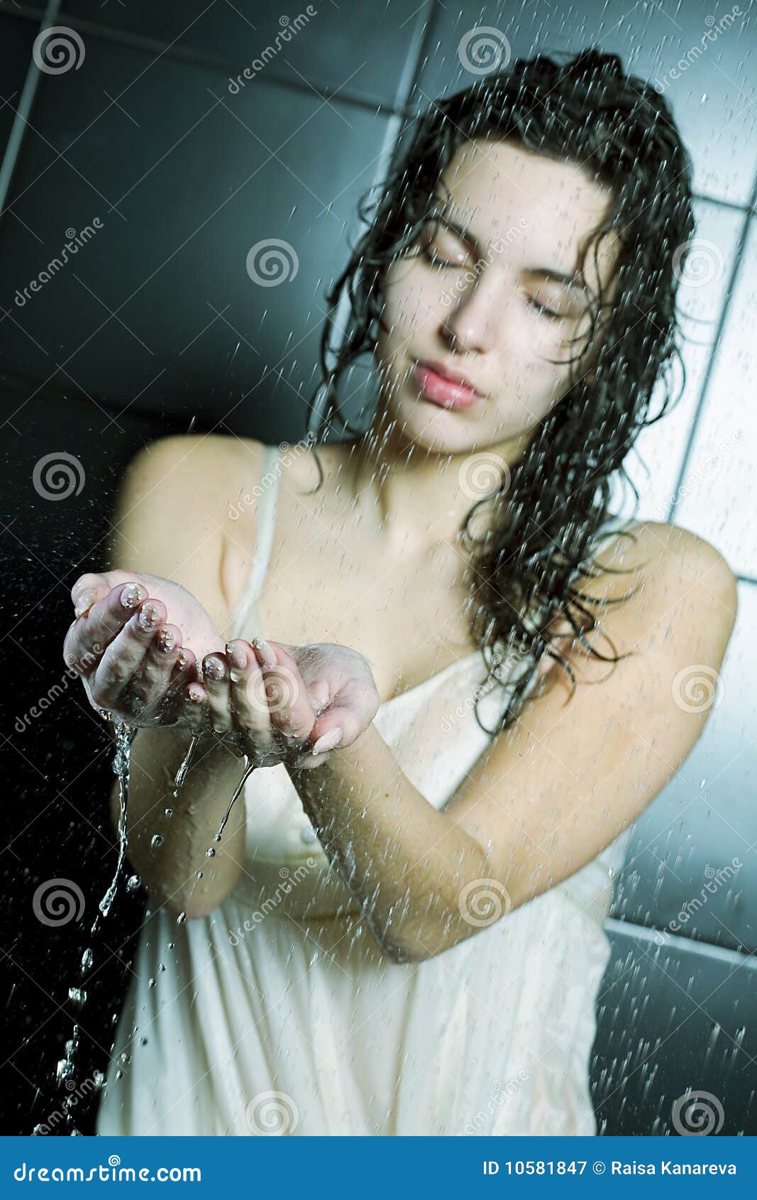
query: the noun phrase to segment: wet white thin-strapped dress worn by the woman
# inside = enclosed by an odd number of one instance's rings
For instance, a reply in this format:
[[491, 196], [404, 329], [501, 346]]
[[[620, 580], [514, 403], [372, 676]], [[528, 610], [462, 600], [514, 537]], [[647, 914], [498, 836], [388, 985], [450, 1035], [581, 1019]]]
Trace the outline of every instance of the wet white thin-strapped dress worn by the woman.
[[[263, 632], [277, 452], [266, 448], [234, 636]], [[471, 702], [485, 677], [475, 650], [376, 715], [437, 809], [488, 744]], [[495, 688], [480, 702], [489, 727], [501, 700]], [[630, 829], [452, 949], [396, 964], [355, 920], [286, 767], [253, 772], [245, 806], [246, 860], [227, 899], [204, 918], [158, 908], [143, 925], [97, 1134], [596, 1133], [588, 1075], [603, 920]]]

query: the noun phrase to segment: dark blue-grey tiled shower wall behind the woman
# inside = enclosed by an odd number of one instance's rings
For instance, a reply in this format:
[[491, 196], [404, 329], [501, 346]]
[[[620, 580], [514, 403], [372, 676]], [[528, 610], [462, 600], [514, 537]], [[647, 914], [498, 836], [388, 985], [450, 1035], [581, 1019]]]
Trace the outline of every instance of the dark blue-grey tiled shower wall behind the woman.
[[[578, 14], [561, 0], [325, 0], [313, 8], [258, 78], [234, 89], [229, 80], [286, 28], [280, 4], [53, 5], [48, 22], [76, 30], [83, 47], [78, 65], [60, 73], [32, 65], [42, 11], [0, 7], [11, 542], [31, 545], [31, 557], [22, 550], [19, 558], [38, 559], [52, 596], [35, 617], [19, 606], [13, 626], [31, 692], [46, 660], [30, 623], [62, 611], [72, 556], [86, 558], [104, 532], [100, 508], [137, 444], [192, 418], [270, 440], [302, 433], [323, 293], [359, 228], [358, 198], [380, 178], [402, 115], [470, 82], [458, 59], [463, 35], [493, 28], [513, 55], [590, 42], [617, 50], [666, 88], [695, 162], [701, 242], [681, 288], [684, 396], [630, 460], [638, 512], [673, 518], [725, 552], [740, 578], [740, 616], [704, 736], [637, 822], [618, 881], [593, 1086], [607, 1133], [671, 1133], [671, 1106], [687, 1091], [719, 1098], [723, 1133], [755, 1133], [752, 6], [721, 13], [699, 0], [593, 0]], [[19, 305], [17, 290], [60, 251], [66, 230], [95, 217], [101, 228], [76, 263]], [[250, 287], [247, 251], [263, 238], [296, 248], [298, 274], [286, 287]], [[34, 462], [60, 449], [78, 454], [89, 480], [66, 514], [29, 494]], [[627, 506], [620, 492], [618, 506]], [[77, 541], [78, 520], [85, 535]], [[11, 743], [11, 760], [29, 767], [29, 739]], [[36, 1080], [18, 1062], [31, 1088]]]

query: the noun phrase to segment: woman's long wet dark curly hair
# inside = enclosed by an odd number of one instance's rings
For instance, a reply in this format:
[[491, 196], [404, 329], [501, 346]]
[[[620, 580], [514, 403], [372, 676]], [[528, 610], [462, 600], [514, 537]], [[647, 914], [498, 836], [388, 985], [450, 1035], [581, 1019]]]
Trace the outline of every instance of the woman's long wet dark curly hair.
[[[374, 352], [384, 272], [416, 242], [438, 203], [435, 190], [445, 168], [461, 144], [473, 138], [510, 139], [581, 166], [612, 192], [609, 211], [593, 230], [585, 253], [594, 247], [596, 262], [599, 240], [608, 230], [620, 238], [615, 298], [609, 306], [591, 304], [584, 353], [595, 347], [594, 378], [578, 376], [571, 364], [569, 390], [539, 424], [499, 492], [479, 500], [461, 530], [471, 551], [473, 635], [488, 670], [483, 688], [506, 684], [500, 724], [487, 730], [497, 733], [517, 719], [537, 682], [543, 654], [560, 662], [571, 677], [571, 694], [575, 690], [571, 666], [547, 631], [557, 614], [567, 618], [578, 643], [594, 658], [608, 662], [625, 658], [602, 655], [585, 634], [597, 625], [588, 605], [618, 604], [629, 595], [596, 599], [573, 584], [577, 575], [601, 574], [594, 554], [600, 527], [609, 517], [612, 474], [623, 472], [638, 503], [623, 461], [639, 430], [660, 420], [685, 386], [675, 294], [695, 218], [691, 158], [669, 106], [651, 86], [626, 74], [617, 54], [590, 48], [564, 65], [546, 54], [517, 59], [506, 71], [431, 103], [403, 130], [402, 149], [387, 181], [379, 185], [379, 199], [368, 204], [372, 188], [361, 198], [359, 212], [367, 230], [326, 294], [323, 379], [307, 424], [316, 444], [331, 427], [365, 436], [365, 427], [354, 428], [342, 414], [340, 379], [360, 355]], [[340, 344], [331, 348], [343, 293], [349, 312]], [[602, 308], [609, 311], [601, 314]], [[597, 342], [600, 316], [603, 336]], [[342, 317], [340, 324], [344, 324]], [[673, 355], [683, 370], [674, 401], [669, 374], [662, 371]], [[665, 398], [660, 412], [649, 418], [659, 379]], [[318, 467], [320, 487], [320, 462]], [[470, 530], [476, 509], [492, 500], [498, 503], [501, 521], [493, 534], [489, 530], [476, 541]], [[620, 535], [633, 536], [627, 530]], [[500, 674], [503, 661], [513, 652], [527, 670]], [[486, 728], [477, 712], [476, 720]]]

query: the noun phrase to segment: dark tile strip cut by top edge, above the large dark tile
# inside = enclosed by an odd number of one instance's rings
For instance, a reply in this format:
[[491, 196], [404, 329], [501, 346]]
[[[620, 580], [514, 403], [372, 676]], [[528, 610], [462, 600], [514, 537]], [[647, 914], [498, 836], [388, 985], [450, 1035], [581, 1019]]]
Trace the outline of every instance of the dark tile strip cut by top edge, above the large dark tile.
[[274, 0], [125, 0], [107, 6], [101, 0], [68, 0], [61, 17], [217, 56], [238, 66], [232, 78], [247, 67], [258, 78], [268, 72], [298, 85], [343, 89], [370, 103], [392, 104], [427, 7], [417, 0], [323, 0], [299, 5], [288, 16]]

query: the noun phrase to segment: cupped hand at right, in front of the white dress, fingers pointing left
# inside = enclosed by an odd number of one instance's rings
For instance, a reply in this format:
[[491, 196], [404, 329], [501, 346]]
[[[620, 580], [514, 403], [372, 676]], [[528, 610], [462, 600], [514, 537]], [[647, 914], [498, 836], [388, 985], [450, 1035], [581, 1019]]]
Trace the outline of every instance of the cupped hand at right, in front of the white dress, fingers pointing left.
[[217, 736], [236, 738], [258, 766], [319, 766], [372, 722], [379, 696], [365, 658], [347, 646], [236, 638], [203, 660], [190, 694]]

